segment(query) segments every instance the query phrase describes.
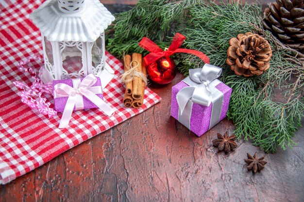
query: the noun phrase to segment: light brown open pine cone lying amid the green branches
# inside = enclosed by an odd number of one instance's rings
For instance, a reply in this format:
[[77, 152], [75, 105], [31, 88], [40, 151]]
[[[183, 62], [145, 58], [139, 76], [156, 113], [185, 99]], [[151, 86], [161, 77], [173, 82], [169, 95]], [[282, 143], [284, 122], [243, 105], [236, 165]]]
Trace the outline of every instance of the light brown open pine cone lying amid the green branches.
[[261, 75], [270, 67], [271, 47], [266, 39], [251, 32], [238, 34], [229, 41], [226, 60], [236, 75]]

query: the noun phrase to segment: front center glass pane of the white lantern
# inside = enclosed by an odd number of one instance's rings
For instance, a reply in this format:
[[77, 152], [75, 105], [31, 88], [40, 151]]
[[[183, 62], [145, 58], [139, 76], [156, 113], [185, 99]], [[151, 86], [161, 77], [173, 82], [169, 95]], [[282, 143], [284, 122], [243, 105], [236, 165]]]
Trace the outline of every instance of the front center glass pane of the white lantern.
[[70, 78], [77, 78], [79, 71], [83, 67], [82, 62], [82, 46], [64, 43], [64, 49], [61, 52], [62, 66], [68, 72]]

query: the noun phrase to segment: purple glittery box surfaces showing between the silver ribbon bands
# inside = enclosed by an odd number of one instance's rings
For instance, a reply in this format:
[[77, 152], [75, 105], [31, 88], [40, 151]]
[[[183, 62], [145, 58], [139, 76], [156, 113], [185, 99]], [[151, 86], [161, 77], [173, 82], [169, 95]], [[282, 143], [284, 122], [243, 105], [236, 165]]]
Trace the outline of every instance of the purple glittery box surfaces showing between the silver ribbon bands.
[[[176, 94], [187, 86], [188, 85], [184, 81], [181, 81], [172, 87], [171, 116], [173, 116], [176, 120], [178, 120], [178, 104], [176, 100]], [[221, 121], [226, 117], [232, 89], [222, 82], [219, 85], [217, 85], [216, 88], [224, 94], [221, 113], [220, 113], [220, 121]], [[212, 103], [209, 107], [193, 103], [191, 120], [190, 120], [190, 129], [199, 137], [209, 130], [211, 110], [212, 110]]]

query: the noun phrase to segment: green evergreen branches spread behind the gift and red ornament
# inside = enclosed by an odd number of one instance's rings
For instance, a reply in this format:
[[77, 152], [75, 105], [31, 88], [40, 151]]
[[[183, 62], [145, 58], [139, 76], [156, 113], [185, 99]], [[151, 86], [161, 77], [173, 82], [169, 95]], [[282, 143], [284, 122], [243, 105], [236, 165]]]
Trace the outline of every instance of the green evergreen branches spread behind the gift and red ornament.
[[[120, 57], [123, 50], [145, 54], [138, 46], [144, 36], [165, 48], [175, 32], [186, 35], [184, 47], [204, 52], [212, 64], [223, 68], [221, 80], [233, 89], [227, 116], [234, 121], [236, 137], [251, 140], [266, 152], [285, 150], [295, 144], [292, 137], [304, 117], [304, 57], [263, 30], [261, 13], [261, 5], [255, 4], [139, 0], [131, 11], [117, 16], [107, 49]], [[244, 78], [225, 61], [229, 40], [249, 31], [265, 37], [273, 54], [268, 71]], [[173, 57], [185, 75], [190, 68], [203, 66], [193, 55]], [[283, 99], [278, 99], [280, 92]]]

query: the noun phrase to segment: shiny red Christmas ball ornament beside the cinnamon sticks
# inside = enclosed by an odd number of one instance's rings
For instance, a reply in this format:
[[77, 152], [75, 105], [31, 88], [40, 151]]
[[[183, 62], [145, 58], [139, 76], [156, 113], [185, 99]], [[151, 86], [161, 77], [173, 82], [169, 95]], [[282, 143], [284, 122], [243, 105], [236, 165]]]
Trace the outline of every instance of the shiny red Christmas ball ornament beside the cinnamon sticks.
[[170, 83], [175, 77], [176, 71], [175, 62], [168, 56], [161, 57], [147, 67], [149, 77], [158, 84]]

